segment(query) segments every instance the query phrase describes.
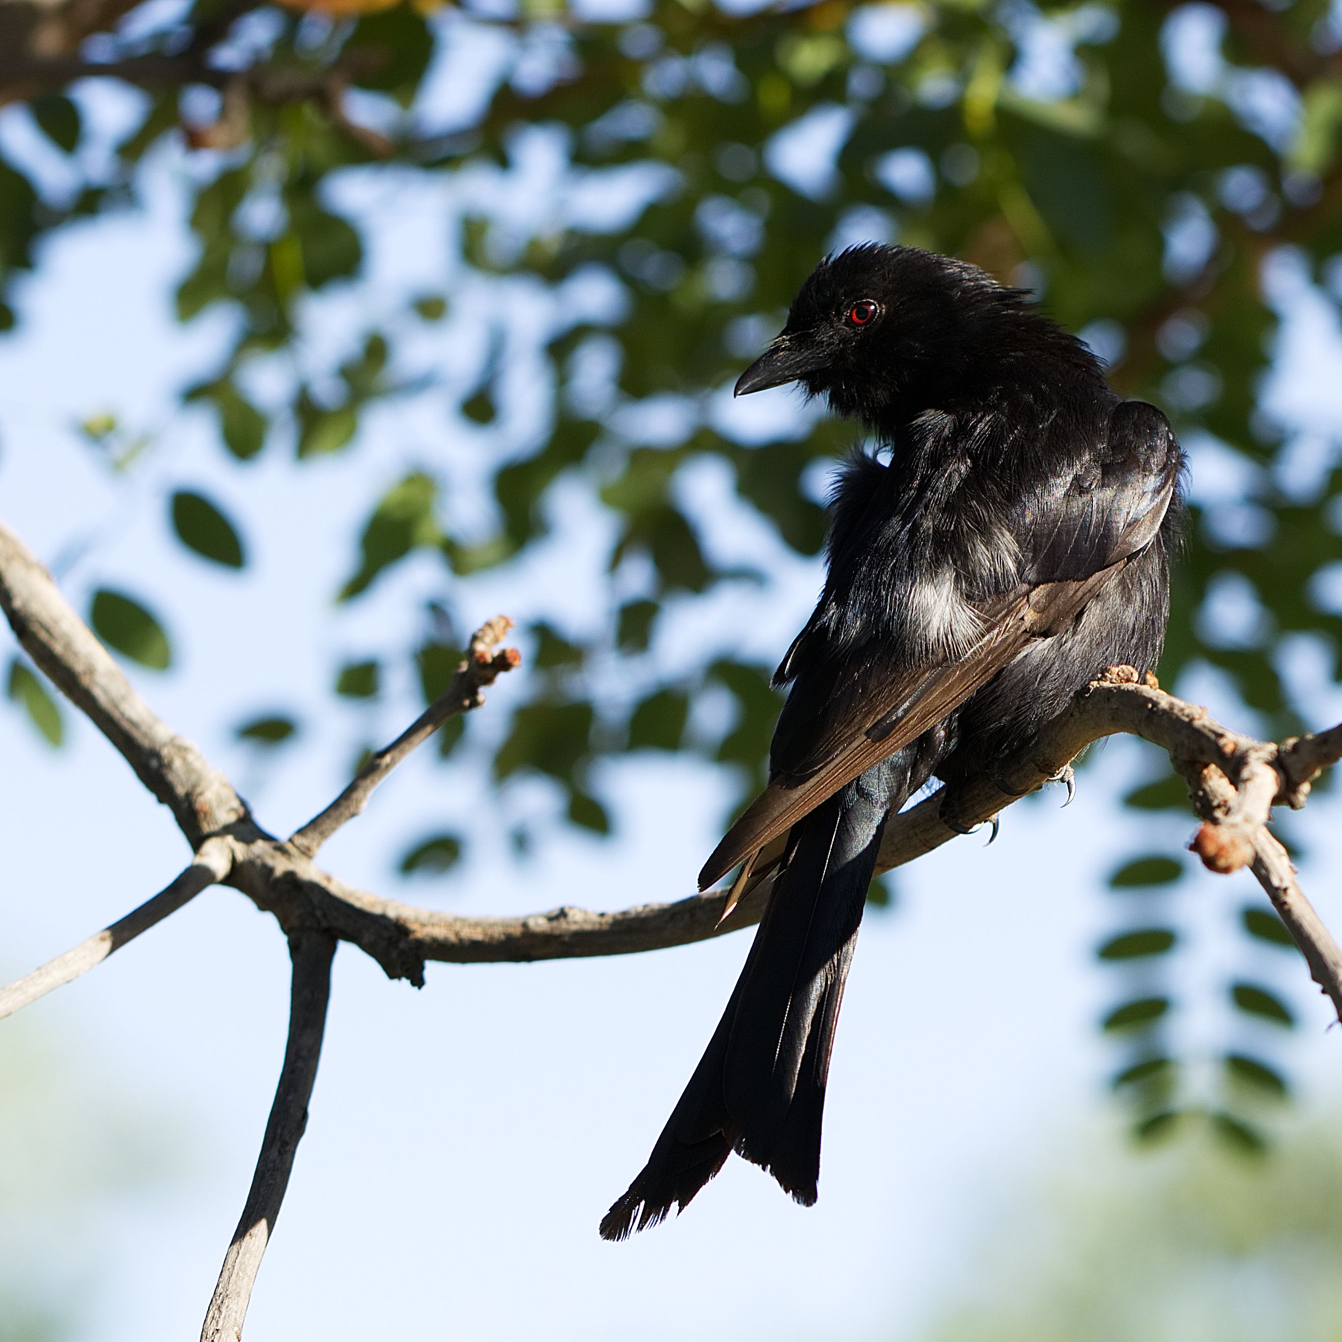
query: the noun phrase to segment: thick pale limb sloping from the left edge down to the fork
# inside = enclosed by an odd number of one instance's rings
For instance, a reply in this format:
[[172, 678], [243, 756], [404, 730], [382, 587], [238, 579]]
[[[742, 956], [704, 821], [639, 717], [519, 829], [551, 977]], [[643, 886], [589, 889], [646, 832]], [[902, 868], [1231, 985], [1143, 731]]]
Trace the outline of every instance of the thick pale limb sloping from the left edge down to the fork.
[[244, 820], [232, 784], [172, 733], [60, 595], [32, 552], [0, 522], [0, 608], [28, 655], [172, 809], [187, 841]]

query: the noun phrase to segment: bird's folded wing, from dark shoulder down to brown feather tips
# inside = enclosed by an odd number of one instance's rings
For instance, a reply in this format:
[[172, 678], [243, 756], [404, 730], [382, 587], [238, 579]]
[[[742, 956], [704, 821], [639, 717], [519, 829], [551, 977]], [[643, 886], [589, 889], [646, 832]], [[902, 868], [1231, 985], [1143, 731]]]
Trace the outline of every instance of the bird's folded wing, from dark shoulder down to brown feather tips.
[[[1115, 408], [1099, 464], [1049, 482], [1021, 507], [1027, 581], [981, 605], [978, 639], [956, 660], [867, 679], [841, 722], [840, 742], [803, 780], [774, 781], [727, 831], [699, 872], [707, 890], [777, 840], [804, 815], [887, 756], [917, 741], [982, 688], [1032, 639], [1067, 627], [1091, 597], [1159, 531], [1182, 456], [1165, 416], [1126, 401]], [[764, 867], [757, 862], [757, 879]]]

